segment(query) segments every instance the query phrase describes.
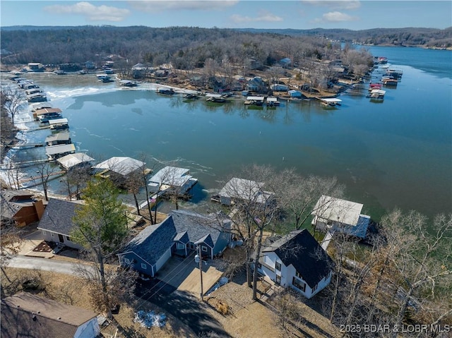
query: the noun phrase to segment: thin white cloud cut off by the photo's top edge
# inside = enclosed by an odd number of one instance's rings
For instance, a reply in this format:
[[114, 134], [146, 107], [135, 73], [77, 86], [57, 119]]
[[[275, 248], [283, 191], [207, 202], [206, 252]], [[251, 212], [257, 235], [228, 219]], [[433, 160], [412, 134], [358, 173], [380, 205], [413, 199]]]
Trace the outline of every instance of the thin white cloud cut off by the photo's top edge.
[[225, 1], [225, 0], [150, 0], [150, 1], [129, 1], [132, 8], [144, 12], [162, 12], [162, 11], [221, 11], [227, 7], [234, 6], [239, 1]]

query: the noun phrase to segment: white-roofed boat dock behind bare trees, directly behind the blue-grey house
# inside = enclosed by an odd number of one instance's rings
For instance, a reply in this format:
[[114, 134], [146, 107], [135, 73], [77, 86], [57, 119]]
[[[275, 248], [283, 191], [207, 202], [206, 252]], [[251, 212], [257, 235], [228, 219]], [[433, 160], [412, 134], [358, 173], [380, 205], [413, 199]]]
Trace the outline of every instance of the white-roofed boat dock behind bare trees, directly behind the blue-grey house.
[[213, 200], [222, 205], [232, 205], [237, 200], [253, 201], [262, 205], [273, 203], [274, 194], [264, 191], [263, 185], [264, 183], [234, 177], [225, 184], [218, 195], [213, 196]]

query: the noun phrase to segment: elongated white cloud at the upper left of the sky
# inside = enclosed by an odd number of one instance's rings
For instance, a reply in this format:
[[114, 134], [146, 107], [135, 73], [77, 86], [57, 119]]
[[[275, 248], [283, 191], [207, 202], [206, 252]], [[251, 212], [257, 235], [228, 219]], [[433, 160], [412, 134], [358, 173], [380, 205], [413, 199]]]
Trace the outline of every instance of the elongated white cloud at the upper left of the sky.
[[78, 2], [74, 5], [52, 5], [44, 8], [55, 14], [77, 14], [85, 16], [90, 21], [122, 21], [130, 14], [128, 9], [111, 6], [94, 6], [89, 2]]

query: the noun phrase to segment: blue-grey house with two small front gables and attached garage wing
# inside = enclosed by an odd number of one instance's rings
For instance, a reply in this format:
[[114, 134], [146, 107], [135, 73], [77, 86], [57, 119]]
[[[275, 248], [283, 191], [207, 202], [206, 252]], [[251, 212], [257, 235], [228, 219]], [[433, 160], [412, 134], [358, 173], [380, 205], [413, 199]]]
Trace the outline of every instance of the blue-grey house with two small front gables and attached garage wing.
[[132, 239], [119, 253], [119, 262], [155, 277], [172, 255], [186, 257], [200, 247], [203, 257], [213, 259], [230, 243], [230, 227], [225, 217], [173, 210], [163, 222], [146, 227]]

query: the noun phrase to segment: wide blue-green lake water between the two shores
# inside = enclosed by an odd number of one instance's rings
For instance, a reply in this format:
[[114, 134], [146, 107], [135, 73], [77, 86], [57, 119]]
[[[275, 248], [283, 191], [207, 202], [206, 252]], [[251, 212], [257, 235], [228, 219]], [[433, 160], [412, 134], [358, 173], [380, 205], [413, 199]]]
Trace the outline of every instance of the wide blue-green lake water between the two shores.
[[[393, 207], [429, 216], [452, 212], [452, 52], [369, 49], [402, 69], [402, 81], [383, 88], [383, 103], [345, 93], [338, 109], [318, 102], [283, 102], [275, 109], [247, 109], [243, 102], [209, 106], [204, 99], [157, 95], [150, 84], [131, 90], [99, 83], [92, 74], [27, 77], [63, 110], [79, 151], [98, 160], [145, 154], [160, 166], [191, 169], [198, 200], [242, 165], [256, 163], [336, 176], [347, 198], [364, 203], [374, 219]], [[32, 131], [26, 138], [43, 142], [48, 134]], [[12, 156], [43, 154], [36, 148]]]

